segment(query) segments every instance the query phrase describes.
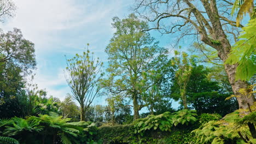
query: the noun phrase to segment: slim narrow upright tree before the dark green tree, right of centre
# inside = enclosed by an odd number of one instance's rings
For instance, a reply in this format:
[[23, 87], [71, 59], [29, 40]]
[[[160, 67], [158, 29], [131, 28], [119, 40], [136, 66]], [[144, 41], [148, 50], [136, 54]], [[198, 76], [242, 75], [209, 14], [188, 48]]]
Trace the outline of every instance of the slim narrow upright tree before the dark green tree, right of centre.
[[184, 109], [188, 109], [186, 91], [192, 70], [191, 59], [189, 59], [188, 54], [185, 52], [182, 52], [181, 54], [178, 51], [175, 51], [174, 53], [175, 57], [172, 64], [177, 67], [175, 72], [176, 82], [179, 86], [179, 92], [181, 94]]

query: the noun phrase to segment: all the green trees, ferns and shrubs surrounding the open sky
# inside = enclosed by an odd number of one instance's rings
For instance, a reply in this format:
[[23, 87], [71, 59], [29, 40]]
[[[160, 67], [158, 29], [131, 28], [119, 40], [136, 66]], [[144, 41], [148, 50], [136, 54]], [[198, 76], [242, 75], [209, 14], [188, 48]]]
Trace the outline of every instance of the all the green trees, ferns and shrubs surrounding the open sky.
[[[66, 58], [71, 94], [62, 101], [33, 82], [34, 44], [0, 29], [0, 143], [256, 143], [254, 5], [138, 0], [134, 13], [113, 18], [106, 69], [89, 44]], [[0, 22], [15, 10], [0, 1]], [[197, 40], [170, 52], [152, 29], [178, 35], [177, 44]], [[94, 105], [97, 95], [107, 105]]]

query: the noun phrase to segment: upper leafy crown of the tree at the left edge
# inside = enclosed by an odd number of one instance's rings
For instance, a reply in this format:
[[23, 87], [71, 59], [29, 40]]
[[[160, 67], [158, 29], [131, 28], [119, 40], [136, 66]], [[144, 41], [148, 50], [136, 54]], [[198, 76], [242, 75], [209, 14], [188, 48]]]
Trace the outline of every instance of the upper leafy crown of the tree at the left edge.
[[6, 34], [0, 30], [0, 64], [7, 62], [14, 63], [24, 73], [36, 68], [34, 44], [24, 39], [18, 28]]

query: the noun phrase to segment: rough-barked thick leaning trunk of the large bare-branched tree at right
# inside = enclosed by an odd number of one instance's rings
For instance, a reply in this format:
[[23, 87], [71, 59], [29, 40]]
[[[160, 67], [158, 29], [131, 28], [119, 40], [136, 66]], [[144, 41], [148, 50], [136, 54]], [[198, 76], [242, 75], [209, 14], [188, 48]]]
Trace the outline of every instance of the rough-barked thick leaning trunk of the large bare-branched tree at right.
[[[189, 7], [195, 8], [194, 5], [192, 5], [189, 1], [187, 1], [187, 0], [185, 0], [185, 1], [189, 5]], [[203, 4], [203, 7], [205, 7], [206, 13], [207, 13], [208, 17], [210, 18], [210, 22], [211, 22], [212, 26], [210, 26], [208, 22], [204, 21], [205, 18], [201, 15], [201, 13], [199, 14], [198, 10], [195, 9], [193, 13], [195, 14], [196, 17], [198, 17], [197, 18], [198, 21], [201, 21], [201, 23], [208, 24], [206, 26], [208, 26], [207, 29], [210, 32], [212, 39], [210, 39], [207, 35], [205, 35], [206, 31], [203, 27], [200, 27], [197, 30], [199, 30], [199, 33], [201, 35], [201, 40], [205, 44], [216, 49], [218, 51], [218, 56], [220, 57], [220, 59], [222, 59], [222, 61], [225, 62], [226, 59], [228, 58], [230, 51], [231, 51], [231, 45], [229, 43], [229, 40], [226, 38], [226, 34], [223, 30], [223, 26], [220, 23], [216, 1], [202, 0], [201, 2]], [[214, 44], [214, 43], [212, 43], [212, 40], [216, 40], [219, 43]], [[253, 105], [254, 98], [247, 97], [247, 95], [242, 95], [238, 92], [241, 88], [247, 88], [248, 83], [245, 81], [241, 81], [241, 80], [238, 80], [238, 81], [235, 80], [237, 64], [233, 64], [233, 65], [224, 64], [224, 66], [225, 66], [226, 74], [228, 74], [228, 78], [229, 78], [229, 82], [232, 87], [232, 91], [234, 92], [235, 95], [239, 96], [239, 97], [237, 97], [239, 108], [240, 109], [248, 109], [248, 104]]]

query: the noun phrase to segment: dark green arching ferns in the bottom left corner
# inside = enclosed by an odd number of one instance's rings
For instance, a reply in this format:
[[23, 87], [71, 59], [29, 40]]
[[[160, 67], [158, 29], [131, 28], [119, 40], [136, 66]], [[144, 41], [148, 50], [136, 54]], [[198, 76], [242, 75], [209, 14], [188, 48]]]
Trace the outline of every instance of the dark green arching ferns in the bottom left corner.
[[[97, 127], [92, 122], [72, 122], [70, 118], [62, 118], [56, 113], [39, 115], [39, 117], [11, 118], [0, 121], [1, 142], [20, 143], [92, 143]], [[4, 137], [3, 137], [4, 136]], [[9, 137], [6, 137], [9, 136]], [[11, 138], [14, 139], [11, 139]]]

